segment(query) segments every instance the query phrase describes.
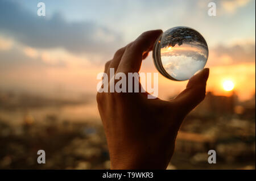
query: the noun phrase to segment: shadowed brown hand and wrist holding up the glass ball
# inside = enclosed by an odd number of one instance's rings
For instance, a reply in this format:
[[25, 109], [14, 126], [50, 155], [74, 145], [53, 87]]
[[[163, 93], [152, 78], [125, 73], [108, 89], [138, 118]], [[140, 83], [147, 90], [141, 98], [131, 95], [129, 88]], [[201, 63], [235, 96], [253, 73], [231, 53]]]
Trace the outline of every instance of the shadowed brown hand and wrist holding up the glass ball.
[[[106, 62], [105, 73], [109, 75], [110, 68], [126, 75], [139, 72], [142, 60], [161, 33], [162, 30], [144, 32], [117, 50], [113, 59]], [[147, 92], [98, 92], [111, 169], [166, 169], [184, 117], [205, 97], [208, 76], [208, 68], [201, 70], [171, 101], [147, 99]]]

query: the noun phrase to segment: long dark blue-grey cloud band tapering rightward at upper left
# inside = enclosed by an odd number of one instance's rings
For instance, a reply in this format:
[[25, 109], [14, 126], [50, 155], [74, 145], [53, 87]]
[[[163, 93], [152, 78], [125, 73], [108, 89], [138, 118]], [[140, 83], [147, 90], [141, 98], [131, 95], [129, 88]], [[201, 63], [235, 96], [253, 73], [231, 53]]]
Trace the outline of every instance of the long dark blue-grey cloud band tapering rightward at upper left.
[[0, 1], [0, 32], [33, 48], [64, 48], [72, 53], [106, 54], [117, 49], [121, 36], [94, 22], [67, 22], [28, 12], [19, 3]]

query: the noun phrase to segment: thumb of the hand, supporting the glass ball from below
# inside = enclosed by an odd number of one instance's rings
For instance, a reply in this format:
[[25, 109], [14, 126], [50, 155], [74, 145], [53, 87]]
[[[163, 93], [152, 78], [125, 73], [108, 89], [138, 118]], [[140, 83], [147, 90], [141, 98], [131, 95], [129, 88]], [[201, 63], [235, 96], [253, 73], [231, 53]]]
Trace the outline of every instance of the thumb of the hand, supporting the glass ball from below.
[[187, 114], [195, 108], [205, 98], [205, 88], [209, 77], [209, 69], [205, 68], [194, 75], [187, 84], [187, 87], [176, 98], [183, 113]]

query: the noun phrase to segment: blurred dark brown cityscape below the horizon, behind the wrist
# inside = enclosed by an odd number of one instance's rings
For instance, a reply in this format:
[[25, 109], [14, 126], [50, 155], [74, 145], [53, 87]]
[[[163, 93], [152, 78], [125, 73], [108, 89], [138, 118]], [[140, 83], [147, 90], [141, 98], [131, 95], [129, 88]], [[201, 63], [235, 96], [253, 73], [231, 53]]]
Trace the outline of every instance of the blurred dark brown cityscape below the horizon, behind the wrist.
[[[109, 169], [104, 129], [92, 112], [97, 115], [92, 95], [56, 99], [0, 91], [0, 169]], [[46, 164], [37, 162], [40, 149]], [[207, 161], [211, 149], [216, 164]], [[235, 92], [208, 92], [185, 118], [167, 169], [255, 169], [255, 95], [240, 102]]]

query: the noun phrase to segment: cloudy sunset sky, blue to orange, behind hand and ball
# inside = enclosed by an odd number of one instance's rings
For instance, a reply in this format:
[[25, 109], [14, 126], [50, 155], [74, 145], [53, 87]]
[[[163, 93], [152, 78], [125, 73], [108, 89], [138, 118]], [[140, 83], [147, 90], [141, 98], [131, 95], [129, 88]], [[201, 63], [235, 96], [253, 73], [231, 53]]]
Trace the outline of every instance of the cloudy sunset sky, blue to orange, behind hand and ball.
[[[46, 16], [37, 15], [38, 2]], [[208, 16], [216, 2], [217, 15]], [[191, 27], [207, 41], [208, 91], [229, 95], [232, 81], [241, 100], [255, 94], [255, 1], [29, 1], [0, 0], [0, 91], [96, 93], [97, 74], [115, 50], [142, 32]], [[158, 72], [152, 54], [143, 72]], [[159, 73], [166, 99], [187, 84]]]

